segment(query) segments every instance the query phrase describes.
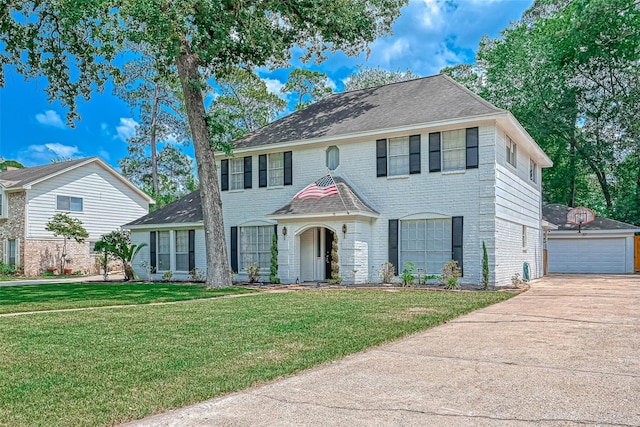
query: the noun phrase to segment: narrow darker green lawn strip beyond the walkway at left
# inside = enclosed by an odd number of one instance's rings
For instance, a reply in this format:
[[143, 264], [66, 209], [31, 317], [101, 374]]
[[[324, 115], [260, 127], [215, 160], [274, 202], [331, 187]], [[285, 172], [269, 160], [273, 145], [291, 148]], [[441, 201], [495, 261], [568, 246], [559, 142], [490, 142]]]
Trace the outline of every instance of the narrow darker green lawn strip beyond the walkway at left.
[[0, 286], [0, 314], [107, 305], [147, 304], [251, 292], [170, 283], [53, 283]]

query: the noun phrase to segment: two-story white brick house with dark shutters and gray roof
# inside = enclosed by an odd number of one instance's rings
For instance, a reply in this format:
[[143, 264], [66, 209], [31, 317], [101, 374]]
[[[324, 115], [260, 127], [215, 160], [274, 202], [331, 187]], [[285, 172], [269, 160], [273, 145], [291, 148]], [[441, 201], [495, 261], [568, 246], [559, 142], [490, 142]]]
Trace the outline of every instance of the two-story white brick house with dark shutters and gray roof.
[[[327, 280], [334, 235], [343, 283], [379, 282], [386, 262], [396, 274], [408, 262], [439, 274], [452, 259], [462, 283], [480, 283], [483, 242], [491, 284], [509, 284], [525, 263], [530, 278], [542, 275], [541, 168], [552, 162], [508, 111], [445, 75], [334, 94], [234, 143], [217, 166], [240, 280], [254, 262], [268, 280], [274, 230], [284, 283]], [[327, 171], [339, 194], [294, 199]], [[171, 220], [126, 226], [149, 244], [139, 274], [145, 260], [161, 274], [161, 257], [175, 273], [185, 241], [191, 265], [206, 267], [201, 221], [188, 243]]]

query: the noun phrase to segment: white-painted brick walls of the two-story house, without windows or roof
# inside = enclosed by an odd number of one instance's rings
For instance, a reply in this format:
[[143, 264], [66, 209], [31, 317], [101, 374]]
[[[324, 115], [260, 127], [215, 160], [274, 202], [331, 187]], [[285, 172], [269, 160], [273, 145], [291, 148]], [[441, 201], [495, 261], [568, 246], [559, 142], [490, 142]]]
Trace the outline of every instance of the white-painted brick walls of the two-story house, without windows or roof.
[[[505, 123], [505, 119], [501, 120]], [[512, 139], [519, 144], [517, 169], [505, 165], [505, 131], [494, 119], [236, 150], [238, 158], [252, 156], [252, 188], [221, 193], [227, 252], [231, 256], [231, 227], [277, 224], [278, 276], [283, 283], [302, 281], [301, 236], [309, 237], [304, 233], [314, 227], [328, 228], [338, 235], [343, 283], [379, 282], [380, 266], [389, 261], [389, 220], [400, 220], [402, 227], [402, 221], [408, 219], [463, 217], [462, 283], [481, 283], [483, 242], [489, 254], [492, 285], [510, 284], [516, 272], [522, 274], [524, 262], [530, 265], [531, 278], [539, 277], [542, 274], [540, 171], [538, 183], [529, 180], [529, 151], [535, 153], [538, 148], [531, 140], [525, 140], [523, 134], [518, 139], [517, 126], [508, 120], [506, 123], [513, 133]], [[477, 169], [429, 172], [430, 132], [476, 126], [479, 128]], [[377, 177], [376, 140], [417, 134], [421, 135], [421, 173]], [[333, 175], [344, 179], [379, 214], [374, 217], [357, 212], [270, 216], [289, 203], [298, 191], [326, 174], [326, 150], [332, 145], [340, 149], [340, 165]], [[282, 151], [292, 151], [293, 185], [260, 188], [258, 156]], [[220, 160], [221, 157], [217, 159], [218, 170]], [[346, 234], [342, 232], [343, 224]], [[527, 233], [526, 248], [522, 247], [523, 225]], [[172, 227], [171, 224], [165, 226]], [[283, 227], [287, 227], [286, 236], [282, 234]], [[201, 229], [196, 234], [200, 239], [196, 248], [197, 267], [204, 270], [204, 235]], [[148, 236], [149, 229], [132, 232], [134, 242], [148, 243]], [[146, 248], [135, 263], [136, 268], [148, 257]], [[398, 261], [398, 269], [402, 270], [402, 259]], [[239, 267], [237, 279], [246, 280], [242, 266]], [[155, 277], [160, 278], [161, 274]], [[268, 277], [268, 270], [261, 272], [261, 280], [266, 281]]]

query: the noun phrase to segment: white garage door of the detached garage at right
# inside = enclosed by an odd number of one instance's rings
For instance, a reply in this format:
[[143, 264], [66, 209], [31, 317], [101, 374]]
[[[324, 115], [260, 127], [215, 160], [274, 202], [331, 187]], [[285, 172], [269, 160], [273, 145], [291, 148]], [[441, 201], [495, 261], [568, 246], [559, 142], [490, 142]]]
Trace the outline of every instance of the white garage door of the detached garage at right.
[[549, 239], [549, 273], [625, 273], [625, 239]]

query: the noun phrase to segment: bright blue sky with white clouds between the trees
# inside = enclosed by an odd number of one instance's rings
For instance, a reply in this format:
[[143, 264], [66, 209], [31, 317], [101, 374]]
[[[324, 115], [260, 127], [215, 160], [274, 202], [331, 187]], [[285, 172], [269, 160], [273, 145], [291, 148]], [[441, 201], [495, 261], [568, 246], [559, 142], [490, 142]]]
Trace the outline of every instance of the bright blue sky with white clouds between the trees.
[[[437, 74], [449, 65], [473, 62], [484, 34], [497, 37], [511, 21], [518, 20], [532, 0], [411, 0], [394, 24], [394, 34], [371, 44], [367, 59], [330, 55], [320, 66], [336, 91], [358, 65], [387, 70], [412, 70]], [[302, 66], [295, 58], [294, 66]], [[259, 71], [274, 92], [286, 82], [287, 70]], [[25, 166], [46, 164], [57, 157], [100, 156], [117, 168], [127, 154], [126, 139], [135, 132], [136, 117], [129, 107], [107, 89], [90, 101], [79, 101], [82, 120], [66, 126], [66, 110], [49, 103], [46, 80], [24, 81], [10, 69], [0, 89], [0, 157]], [[192, 149], [185, 151], [192, 155]]]

